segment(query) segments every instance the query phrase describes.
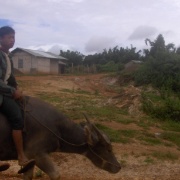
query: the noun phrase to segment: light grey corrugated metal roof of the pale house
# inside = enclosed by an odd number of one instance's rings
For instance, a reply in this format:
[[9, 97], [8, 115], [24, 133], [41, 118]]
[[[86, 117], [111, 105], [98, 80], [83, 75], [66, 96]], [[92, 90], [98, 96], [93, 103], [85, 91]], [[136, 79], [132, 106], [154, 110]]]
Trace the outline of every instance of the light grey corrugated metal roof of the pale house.
[[[33, 56], [36, 56], [36, 57], [44, 57], [44, 58], [51, 58], [51, 59], [62, 59], [62, 60], [67, 60], [66, 58], [62, 57], [62, 56], [58, 56], [58, 55], [55, 55], [51, 52], [44, 52], [44, 51], [38, 51], [38, 50], [31, 50], [31, 49], [24, 49], [24, 48], [17, 48], [15, 50], [22, 50], [22, 51], [25, 51], [29, 54], [32, 54]], [[14, 51], [15, 51], [14, 50]]]

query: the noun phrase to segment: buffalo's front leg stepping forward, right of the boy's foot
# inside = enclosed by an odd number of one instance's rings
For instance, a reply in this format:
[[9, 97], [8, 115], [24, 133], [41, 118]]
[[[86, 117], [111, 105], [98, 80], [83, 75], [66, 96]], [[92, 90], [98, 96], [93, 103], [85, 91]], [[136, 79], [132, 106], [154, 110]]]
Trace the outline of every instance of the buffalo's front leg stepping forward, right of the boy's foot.
[[59, 180], [60, 173], [48, 154], [40, 154], [35, 157], [36, 165], [44, 171], [51, 180]]

